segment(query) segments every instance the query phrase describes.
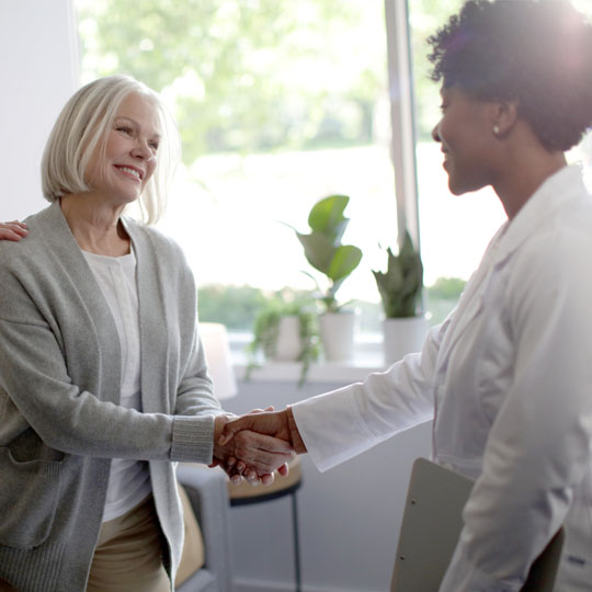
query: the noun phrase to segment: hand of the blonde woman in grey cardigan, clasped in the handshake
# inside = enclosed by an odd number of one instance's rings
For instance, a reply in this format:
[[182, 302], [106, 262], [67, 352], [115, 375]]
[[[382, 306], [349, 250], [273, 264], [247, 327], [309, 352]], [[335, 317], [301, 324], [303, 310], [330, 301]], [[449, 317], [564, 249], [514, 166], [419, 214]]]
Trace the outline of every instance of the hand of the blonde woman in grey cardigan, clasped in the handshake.
[[293, 456], [288, 442], [246, 430], [220, 443], [221, 430], [229, 419], [218, 415], [215, 420], [213, 465], [220, 465], [232, 482], [240, 482], [243, 476], [251, 485], [271, 483], [274, 470], [287, 474], [286, 463]]

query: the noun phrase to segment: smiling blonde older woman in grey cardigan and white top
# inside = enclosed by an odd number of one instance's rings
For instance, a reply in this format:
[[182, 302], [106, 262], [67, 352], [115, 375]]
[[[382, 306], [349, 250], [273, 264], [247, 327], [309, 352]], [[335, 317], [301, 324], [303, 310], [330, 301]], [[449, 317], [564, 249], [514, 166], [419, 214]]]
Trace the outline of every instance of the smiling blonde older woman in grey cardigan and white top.
[[174, 138], [146, 86], [82, 88], [45, 149], [52, 205], [0, 244], [0, 590], [171, 590], [172, 462], [231, 455], [266, 475], [289, 457], [277, 441], [214, 444], [227, 418], [191, 272], [170, 239], [123, 217], [138, 201], [158, 217]]

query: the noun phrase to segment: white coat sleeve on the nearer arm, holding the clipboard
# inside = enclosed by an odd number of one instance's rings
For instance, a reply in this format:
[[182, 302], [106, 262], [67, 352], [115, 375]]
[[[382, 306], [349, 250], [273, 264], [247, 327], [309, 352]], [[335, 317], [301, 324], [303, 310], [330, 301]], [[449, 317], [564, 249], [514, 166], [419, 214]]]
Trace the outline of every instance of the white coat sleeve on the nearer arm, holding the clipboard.
[[592, 445], [592, 240], [540, 237], [508, 282], [514, 377], [441, 592], [520, 590], [561, 526]]

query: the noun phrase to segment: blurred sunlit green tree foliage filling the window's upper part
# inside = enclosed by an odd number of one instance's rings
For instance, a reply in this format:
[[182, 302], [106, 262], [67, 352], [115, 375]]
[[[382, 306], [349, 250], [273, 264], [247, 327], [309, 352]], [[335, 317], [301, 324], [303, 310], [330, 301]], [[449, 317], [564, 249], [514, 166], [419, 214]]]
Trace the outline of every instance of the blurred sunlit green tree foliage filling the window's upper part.
[[379, 19], [368, 21], [367, 10], [382, 12], [382, 1], [77, 5], [87, 77], [130, 73], [172, 98], [187, 164], [208, 152], [348, 146], [372, 138], [386, 54], [380, 43], [368, 44], [384, 27], [368, 33]]

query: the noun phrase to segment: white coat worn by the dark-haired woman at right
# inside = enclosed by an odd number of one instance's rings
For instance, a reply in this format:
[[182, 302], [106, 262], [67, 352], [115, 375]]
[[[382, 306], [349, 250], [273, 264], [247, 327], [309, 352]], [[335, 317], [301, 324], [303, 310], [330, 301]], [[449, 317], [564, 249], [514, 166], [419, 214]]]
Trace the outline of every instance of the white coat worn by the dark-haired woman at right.
[[477, 479], [441, 592], [520, 590], [563, 523], [556, 589], [592, 590], [592, 198], [580, 168], [502, 226], [420, 354], [293, 411], [320, 470], [434, 419], [434, 459]]

